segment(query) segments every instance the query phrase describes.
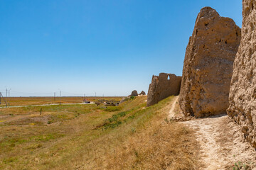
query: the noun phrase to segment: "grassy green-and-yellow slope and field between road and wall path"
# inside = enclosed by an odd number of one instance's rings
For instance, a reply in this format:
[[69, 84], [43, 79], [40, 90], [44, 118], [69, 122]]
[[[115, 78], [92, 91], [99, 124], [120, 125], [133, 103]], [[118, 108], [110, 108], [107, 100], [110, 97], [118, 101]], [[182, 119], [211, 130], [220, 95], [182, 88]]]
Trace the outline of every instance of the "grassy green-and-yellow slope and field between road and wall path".
[[145, 100], [0, 108], [0, 169], [196, 169], [193, 130], [167, 119], [173, 97]]

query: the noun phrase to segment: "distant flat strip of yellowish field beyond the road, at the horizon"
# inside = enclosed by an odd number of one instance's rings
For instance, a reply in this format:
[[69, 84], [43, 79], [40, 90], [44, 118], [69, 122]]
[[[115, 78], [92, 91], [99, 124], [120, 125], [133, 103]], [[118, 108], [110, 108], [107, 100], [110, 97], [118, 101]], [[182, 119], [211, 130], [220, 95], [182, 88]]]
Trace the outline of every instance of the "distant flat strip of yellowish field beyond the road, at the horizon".
[[[85, 97], [88, 101], [97, 101], [100, 99], [117, 100], [120, 101], [122, 97]], [[85, 99], [83, 97], [10, 97], [6, 98], [10, 106], [27, 106], [27, 105], [43, 105], [53, 103], [82, 103]], [[6, 106], [3, 98], [1, 98], [1, 105]]]

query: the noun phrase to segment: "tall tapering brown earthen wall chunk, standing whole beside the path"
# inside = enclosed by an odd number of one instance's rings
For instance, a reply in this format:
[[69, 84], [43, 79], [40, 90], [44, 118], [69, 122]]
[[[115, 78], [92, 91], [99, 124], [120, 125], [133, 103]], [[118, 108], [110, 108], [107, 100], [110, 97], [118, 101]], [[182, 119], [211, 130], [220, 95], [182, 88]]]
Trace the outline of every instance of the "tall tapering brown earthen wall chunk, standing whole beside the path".
[[179, 103], [196, 118], [225, 113], [240, 28], [213, 8], [202, 8], [189, 38]]

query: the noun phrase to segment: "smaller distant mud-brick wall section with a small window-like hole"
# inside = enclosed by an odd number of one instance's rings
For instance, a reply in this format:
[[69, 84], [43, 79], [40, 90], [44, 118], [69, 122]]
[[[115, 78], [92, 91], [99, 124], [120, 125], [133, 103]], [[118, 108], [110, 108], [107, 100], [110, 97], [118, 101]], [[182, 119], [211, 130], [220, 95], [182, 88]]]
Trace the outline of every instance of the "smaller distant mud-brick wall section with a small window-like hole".
[[154, 105], [169, 96], [179, 94], [181, 87], [181, 77], [175, 74], [160, 73], [159, 76], [153, 76], [149, 84], [147, 96], [147, 106]]

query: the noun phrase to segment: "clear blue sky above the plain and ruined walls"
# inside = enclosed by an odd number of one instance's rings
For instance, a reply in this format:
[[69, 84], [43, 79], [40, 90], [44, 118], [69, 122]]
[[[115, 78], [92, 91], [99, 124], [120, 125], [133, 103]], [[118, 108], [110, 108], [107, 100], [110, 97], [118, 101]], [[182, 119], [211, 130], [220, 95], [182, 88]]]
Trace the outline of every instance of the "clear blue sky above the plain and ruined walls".
[[204, 6], [241, 27], [242, 0], [2, 0], [0, 91], [147, 92], [153, 74], [181, 76], [188, 38]]

